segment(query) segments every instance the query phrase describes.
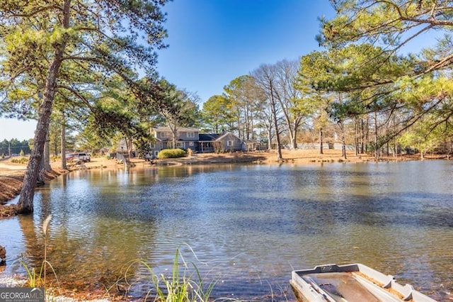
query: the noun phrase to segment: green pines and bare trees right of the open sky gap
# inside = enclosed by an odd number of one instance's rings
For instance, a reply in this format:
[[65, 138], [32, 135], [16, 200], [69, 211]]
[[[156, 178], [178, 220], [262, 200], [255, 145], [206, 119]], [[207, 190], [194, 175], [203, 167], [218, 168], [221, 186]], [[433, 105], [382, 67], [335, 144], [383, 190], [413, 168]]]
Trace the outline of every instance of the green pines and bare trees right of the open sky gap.
[[[452, 26], [449, 1], [331, 1], [320, 19], [323, 50], [261, 65], [203, 104], [205, 125], [297, 148], [340, 142], [356, 153], [452, 152]], [[443, 33], [444, 35], [440, 35]], [[415, 38], [437, 44], [403, 52]], [[280, 152], [277, 152], [279, 158]]]

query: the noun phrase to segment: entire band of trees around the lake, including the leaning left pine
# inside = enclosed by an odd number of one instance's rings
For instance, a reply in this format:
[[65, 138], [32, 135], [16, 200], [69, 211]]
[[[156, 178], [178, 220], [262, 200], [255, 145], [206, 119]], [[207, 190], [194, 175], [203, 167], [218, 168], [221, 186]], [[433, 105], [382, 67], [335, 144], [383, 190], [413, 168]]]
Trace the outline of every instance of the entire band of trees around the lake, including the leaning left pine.
[[[21, 211], [33, 211], [50, 150], [125, 140], [146, 153], [154, 125], [168, 125], [174, 138], [182, 126], [229, 130], [275, 148], [278, 160], [299, 142], [320, 142], [321, 153], [323, 142], [341, 142], [344, 157], [346, 144], [376, 157], [451, 150], [452, 4], [331, 2], [336, 16], [320, 18], [321, 50], [239, 75], [200, 109], [196, 94], [156, 72], [165, 0], [0, 0], [0, 114], [38, 121]], [[433, 47], [403, 52], [432, 33]]]

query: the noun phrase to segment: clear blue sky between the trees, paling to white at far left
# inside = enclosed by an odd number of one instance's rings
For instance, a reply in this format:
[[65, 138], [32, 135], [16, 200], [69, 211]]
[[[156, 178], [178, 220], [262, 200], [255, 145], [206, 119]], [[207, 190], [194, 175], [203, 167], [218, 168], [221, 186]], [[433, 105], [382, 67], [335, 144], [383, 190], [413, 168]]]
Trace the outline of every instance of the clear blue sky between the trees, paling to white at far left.
[[[158, 72], [200, 96], [200, 108], [261, 64], [320, 50], [318, 18], [334, 16], [328, 0], [174, 0], [164, 11], [169, 47], [159, 51]], [[0, 140], [33, 138], [35, 125], [0, 118]]]

